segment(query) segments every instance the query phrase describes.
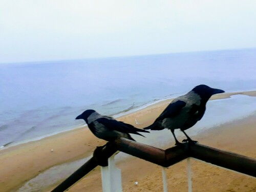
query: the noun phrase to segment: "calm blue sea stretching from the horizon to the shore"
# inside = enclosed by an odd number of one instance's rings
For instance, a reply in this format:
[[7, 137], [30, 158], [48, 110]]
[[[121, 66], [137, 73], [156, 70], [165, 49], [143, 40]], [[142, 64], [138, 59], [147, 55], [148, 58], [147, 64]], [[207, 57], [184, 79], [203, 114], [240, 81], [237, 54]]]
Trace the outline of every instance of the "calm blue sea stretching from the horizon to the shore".
[[256, 90], [256, 49], [0, 64], [0, 146], [74, 129], [184, 94], [198, 84]]

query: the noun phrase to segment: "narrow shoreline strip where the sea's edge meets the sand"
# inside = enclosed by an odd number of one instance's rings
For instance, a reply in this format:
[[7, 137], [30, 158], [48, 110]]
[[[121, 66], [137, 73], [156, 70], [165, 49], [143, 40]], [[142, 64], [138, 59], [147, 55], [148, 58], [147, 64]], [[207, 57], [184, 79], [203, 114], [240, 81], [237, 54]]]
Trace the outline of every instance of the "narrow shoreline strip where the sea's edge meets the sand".
[[[213, 95], [209, 100], [216, 100], [216, 99], [227, 99], [227, 98], [231, 98], [231, 96], [233, 95], [247, 95], [247, 96], [252, 96], [252, 97], [256, 97], [256, 90], [250, 90], [250, 91], [237, 91], [237, 92], [227, 92], [227, 93], [224, 93], [224, 94], [218, 94], [218, 95]], [[151, 103], [146, 103], [146, 104], [143, 104], [141, 106], [138, 106], [137, 108], [134, 108], [132, 110], [129, 110], [129, 111], [126, 111], [126, 112], [120, 112], [120, 113], [117, 113], [117, 114], [114, 114], [113, 115], [113, 118], [122, 118], [123, 116], [126, 116], [126, 115], [129, 115], [129, 114], [132, 114], [132, 113], [136, 113], [138, 111], [143, 111], [147, 108], [151, 108], [151, 107], [154, 107], [155, 105], [158, 105], [159, 103], [165, 103], [165, 102], [170, 102], [172, 101], [174, 98], [166, 98], [166, 99], [159, 99], [155, 102], [151, 102]], [[38, 136], [36, 138], [33, 138], [33, 139], [26, 139], [24, 141], [19, 141], [19, 142], [16, 142], [13, 141], [11, 142], [10, 144], [5, 144], [3, 146], [0, 146], [0, 152], [1, 150], [6, 150], [7, 148], [9, 147], [14, 147], [14, 146], [17, 146], [17, 145], [22, 145], [22, 144], [26, 144], [26, 143], [30, 143], [30, 142], [34, 142], [34, 141], [39, 141], [41, 139], [46, 139], [48, 137], [52, 137], [52, 136], [56, 136], [58, 134], [65, 134], [65, 133], [69, 133], [70, 131], [75, 131], [75, 130], [78, 130], [78, 129], [84, 129], [85, 127], [87, 127], [87, 125], [81, 125], [79, 127], [74, 127], [70, 130], [65, 130], [65, 131], [60, 131], [60, 132], [56, 132], [56, 133], [51, 133], [51, 134], [47, 134], [47, 135], [42, 135], [42, 136]]]

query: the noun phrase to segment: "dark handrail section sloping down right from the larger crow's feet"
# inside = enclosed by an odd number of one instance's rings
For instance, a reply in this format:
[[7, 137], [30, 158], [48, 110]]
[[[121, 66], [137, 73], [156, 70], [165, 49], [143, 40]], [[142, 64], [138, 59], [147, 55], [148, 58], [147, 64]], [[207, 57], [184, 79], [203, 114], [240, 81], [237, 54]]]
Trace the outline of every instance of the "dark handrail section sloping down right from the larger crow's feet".
[[211, 164], [256, 177], [256, 160], [201, 144], [190, 145], [190, 156]]

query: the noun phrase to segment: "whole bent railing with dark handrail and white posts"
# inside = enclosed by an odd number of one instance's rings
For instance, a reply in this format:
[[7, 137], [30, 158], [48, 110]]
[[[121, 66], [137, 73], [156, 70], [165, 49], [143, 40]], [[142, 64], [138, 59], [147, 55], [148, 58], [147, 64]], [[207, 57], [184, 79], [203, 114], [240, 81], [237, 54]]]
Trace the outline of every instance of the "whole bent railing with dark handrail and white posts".
[[74, 172], [65, 181], [54, 188], [52, 192], [65, 191], [98, 165], [101, 166], [103, 192], [122, 191], [121, 173], [120, 170], [115, 167], [114, 161], [114, 154], [117, 151], [162, 166], [164, 191], [167, 191], [164, 167], [172, 166], [184, 159], [187, 159], [188, 191], [191, 191], [190, 158], [256, 177], [256, 159], [253, 158], [218, 150], [216, 148], [197, 143], [182, 143], [181, 145], [161, 150], [157, 147], [120, 138], [114, 142], [109, 142], [102, 147], [97, 147], [94, 151], [93, 157], [77, 169], [76, 172]]

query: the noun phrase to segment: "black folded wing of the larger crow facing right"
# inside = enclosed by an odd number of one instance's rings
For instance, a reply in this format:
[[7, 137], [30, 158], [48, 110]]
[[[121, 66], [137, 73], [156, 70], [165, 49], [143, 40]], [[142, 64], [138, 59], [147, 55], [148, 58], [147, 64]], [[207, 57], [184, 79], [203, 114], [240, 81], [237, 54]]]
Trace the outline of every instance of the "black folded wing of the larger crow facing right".
[[178, 100], [174, 103], [170, 103], [165, 108], [165, 110], [161, 113], [161, 115], [159, 115], [159, 117], [155, 120], [155, 122], [178, 115], [185, 105], [186, 105], [186, 102], [181, 100]]

